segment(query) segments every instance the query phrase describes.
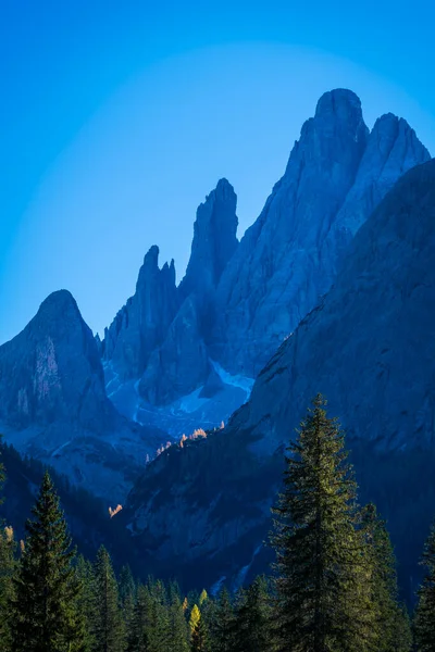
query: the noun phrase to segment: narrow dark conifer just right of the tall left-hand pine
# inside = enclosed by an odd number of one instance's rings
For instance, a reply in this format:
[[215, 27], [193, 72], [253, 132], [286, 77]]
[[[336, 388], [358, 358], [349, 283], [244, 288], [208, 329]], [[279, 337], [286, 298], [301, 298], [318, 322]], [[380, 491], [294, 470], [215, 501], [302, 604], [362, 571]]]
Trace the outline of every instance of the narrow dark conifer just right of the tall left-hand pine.
[[126, 648], [120, 595], [112, 562], [101, 546], [94, 568], [92, 636], [95, 652], [123, 652]]

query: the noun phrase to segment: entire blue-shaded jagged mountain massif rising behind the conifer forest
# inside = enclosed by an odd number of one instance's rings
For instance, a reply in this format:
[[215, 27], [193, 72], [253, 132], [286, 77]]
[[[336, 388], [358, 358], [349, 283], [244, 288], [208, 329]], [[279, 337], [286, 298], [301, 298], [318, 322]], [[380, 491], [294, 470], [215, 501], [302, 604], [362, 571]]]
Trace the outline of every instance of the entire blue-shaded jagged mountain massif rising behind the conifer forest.
[[237, 586], [321, 391], [397, 541], [397, 515], [417, 523], [435, 494], [415, 471], [435, 455], [434, 188], [405, 120], [370, 130], [353, 92], [326, 92], [240, 240], [221, 179], [178, 286], [153, 246], [102, 341], [61, 290], [0, 347], [0, 431], [110, 502], [130, 490], [119, 518], [139, 559]]

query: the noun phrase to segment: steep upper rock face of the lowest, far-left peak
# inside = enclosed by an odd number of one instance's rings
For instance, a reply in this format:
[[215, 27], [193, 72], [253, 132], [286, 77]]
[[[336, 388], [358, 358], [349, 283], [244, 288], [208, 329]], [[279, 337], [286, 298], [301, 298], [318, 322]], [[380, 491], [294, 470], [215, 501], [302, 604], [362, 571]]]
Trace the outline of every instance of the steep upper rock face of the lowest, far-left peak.
[[0, 347], [0, 417], [20, 427], [61, 418], [102, 430], [113, 414], [92, 333], [72, 294], [53, 292]]

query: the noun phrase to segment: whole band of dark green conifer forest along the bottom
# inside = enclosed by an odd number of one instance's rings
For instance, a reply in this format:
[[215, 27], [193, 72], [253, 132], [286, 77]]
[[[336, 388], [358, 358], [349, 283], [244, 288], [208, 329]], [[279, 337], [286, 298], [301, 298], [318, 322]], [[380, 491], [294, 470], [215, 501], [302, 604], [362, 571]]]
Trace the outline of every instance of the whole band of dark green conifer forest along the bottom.
[[[1, 480], [4, 480], [1, 467]], [[231, 593], [115, 572], [78, 555], [44, 476], [26, 536], [0, 536], [1, 652], [435, 651], [435, 528], [413, 613], [400, 600], [387, 524], [360, 505], [345, 435], [318, 396], [286, 451], [266, 576]]]

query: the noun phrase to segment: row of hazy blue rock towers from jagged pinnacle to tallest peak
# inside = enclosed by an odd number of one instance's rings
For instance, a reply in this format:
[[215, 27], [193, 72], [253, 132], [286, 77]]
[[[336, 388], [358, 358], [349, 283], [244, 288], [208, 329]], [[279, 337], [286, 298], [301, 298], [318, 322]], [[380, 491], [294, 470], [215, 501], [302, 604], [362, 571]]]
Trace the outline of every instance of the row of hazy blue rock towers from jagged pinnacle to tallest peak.
[[[202, 387], [210, 363], [254, 378], [331, 288], [355, 234], [385, 193], [428, 158], [406, 121], [387, 114], [370, 133], [353, 92], [326, 92], [240, 243], [236, 196], [221, 179], [198, 209], [176, 299], [172, 279], [170, 292], [157, 289], [154, 260], [152, 280], [148, 274], [138, 283], [105, 335], [108, 379], [141, 377], [141, 399], [165, 405]], [[151, 287], [163, 301], [148, 299]], [[145, 328], [147, 322], [153, 327]]]

